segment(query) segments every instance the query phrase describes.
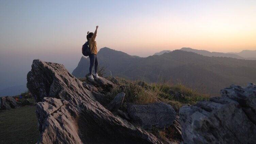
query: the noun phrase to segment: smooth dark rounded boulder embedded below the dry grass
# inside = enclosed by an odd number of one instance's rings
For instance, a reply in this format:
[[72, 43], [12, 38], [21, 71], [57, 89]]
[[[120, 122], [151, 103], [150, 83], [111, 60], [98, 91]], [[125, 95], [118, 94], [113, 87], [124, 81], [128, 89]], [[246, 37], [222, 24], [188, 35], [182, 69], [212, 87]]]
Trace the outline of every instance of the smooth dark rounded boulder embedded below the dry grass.
[[175, 110], [167, 104], [155, 103], [147, 105], [127, 106], [130, 118], [145, 129], [157, 127], [163, 129], [173, 124], [176, 118]]

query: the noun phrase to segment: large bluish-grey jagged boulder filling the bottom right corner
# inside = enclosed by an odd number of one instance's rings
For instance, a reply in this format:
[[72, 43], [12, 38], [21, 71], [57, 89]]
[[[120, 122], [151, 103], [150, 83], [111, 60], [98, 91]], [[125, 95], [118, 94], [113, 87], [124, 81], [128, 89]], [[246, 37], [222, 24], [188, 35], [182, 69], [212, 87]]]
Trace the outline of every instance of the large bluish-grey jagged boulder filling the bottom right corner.
[[256, 143], [256, 86], [231, 85], [221, 94], [180, 109], [184, 144]]

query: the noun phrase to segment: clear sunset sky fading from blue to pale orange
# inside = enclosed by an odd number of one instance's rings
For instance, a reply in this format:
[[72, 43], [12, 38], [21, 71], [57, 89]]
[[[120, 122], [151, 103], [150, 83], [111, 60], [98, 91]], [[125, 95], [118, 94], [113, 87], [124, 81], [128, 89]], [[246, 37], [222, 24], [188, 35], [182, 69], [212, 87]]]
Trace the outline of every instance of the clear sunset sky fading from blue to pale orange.
[[146, 57], [190, 47], [256, 50], [255, 0], [0, 0], [0, 89], [26, 84], [33, 59], [72, 72], [85, 42]]

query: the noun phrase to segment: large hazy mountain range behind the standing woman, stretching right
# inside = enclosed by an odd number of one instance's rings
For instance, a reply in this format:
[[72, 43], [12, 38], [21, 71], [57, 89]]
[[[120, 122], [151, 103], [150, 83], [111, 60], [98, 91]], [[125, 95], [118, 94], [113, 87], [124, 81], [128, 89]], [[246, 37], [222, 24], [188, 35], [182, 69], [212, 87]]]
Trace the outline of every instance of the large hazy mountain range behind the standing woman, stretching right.
[[[131, 80], [182, 83], [212, 95], [218, 95], [221, 88], [231, 84], [256, 82], [256, 60], [209, 57], [184, 49], [143, 58], [105, 47], [100, 49], [97, 57], [100, 66], [106, 67], [107, 75], [111, 72], [113, 76]], [[89, 65], [89, 58], [81, 57], [72, 74], [84, 77], [89, 72]]]

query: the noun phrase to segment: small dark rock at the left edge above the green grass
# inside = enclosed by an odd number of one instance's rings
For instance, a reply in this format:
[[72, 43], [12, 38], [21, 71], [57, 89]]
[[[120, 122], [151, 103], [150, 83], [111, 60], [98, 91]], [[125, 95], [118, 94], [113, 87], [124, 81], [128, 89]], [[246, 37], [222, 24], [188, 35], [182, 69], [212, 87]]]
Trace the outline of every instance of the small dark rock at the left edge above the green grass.
[[2, 100], [2, 106], [1, 106], [2, 110], [20, 107], [12, 96], [3, 96], [1, 100]]

